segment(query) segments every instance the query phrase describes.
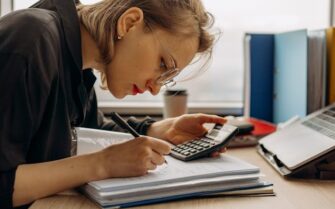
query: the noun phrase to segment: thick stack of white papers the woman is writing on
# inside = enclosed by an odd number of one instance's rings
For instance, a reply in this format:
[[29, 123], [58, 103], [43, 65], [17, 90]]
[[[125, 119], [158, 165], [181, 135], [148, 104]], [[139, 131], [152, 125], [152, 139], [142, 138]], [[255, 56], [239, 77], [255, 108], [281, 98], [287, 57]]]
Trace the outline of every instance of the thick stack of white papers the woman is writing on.
[[[78, 154], [92, 152], [132, 138], [128, 134], [77, 129]], [[248, 190], [269, 189], [260, 179], [259, 168], [228, 155], [183, 162], [166, 156], [168, 164], [147, 175], [93, 181], [82, 191], [102, 208], [130, 207], [213, 194], [247, 194]], [[265, 190], [263, 190], [265, 191]], [[237, 192], [237, 193], [236, 193]]]

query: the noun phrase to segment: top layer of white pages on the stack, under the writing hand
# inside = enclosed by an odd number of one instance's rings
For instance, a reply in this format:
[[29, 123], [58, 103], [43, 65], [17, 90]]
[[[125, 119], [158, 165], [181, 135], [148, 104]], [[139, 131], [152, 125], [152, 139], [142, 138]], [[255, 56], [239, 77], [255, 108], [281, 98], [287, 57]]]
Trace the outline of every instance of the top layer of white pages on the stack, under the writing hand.
[[180, 161], [170, 156], [166, 156], [165, 159], [168, 165], [163, 165], [147, 175], [94, 181], [90, 182], [89, 185], [101, 192], [106, 192], [202, 178], [259, 173], [258, 167], [229, 156], [203, 158], [191, 162]]

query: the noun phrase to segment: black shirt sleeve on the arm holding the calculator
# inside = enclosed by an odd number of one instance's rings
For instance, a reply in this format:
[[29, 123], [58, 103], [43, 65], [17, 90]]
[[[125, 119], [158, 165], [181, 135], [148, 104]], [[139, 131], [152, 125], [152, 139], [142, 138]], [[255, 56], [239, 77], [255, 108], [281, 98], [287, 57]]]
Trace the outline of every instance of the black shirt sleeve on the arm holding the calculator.
[[[88, 105], [85, 120], [81, 125], [82, 127], [127, 132], [115, 124], [114, 121], [104, 116], [104, 114], [98, 109], [97, 98], [94, 90], [91, 91], [89, 103], [90, 104]], [[127, 122], [139, 134], [146, 135], [150, 125], [156, 121], [147, 116], [142, 120], [139, 120], [135, 117], [130, 117], [127, 119]]]

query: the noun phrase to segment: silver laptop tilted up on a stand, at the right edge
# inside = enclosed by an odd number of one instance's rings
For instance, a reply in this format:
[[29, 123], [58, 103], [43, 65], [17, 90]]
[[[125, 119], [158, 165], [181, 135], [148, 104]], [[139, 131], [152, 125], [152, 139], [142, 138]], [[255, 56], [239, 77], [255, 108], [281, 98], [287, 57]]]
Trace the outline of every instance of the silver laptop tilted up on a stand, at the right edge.
[[334, 150], [335, 103], [262, 138], [258, 146], [259, 153], [282, 175], [320, 162]]

